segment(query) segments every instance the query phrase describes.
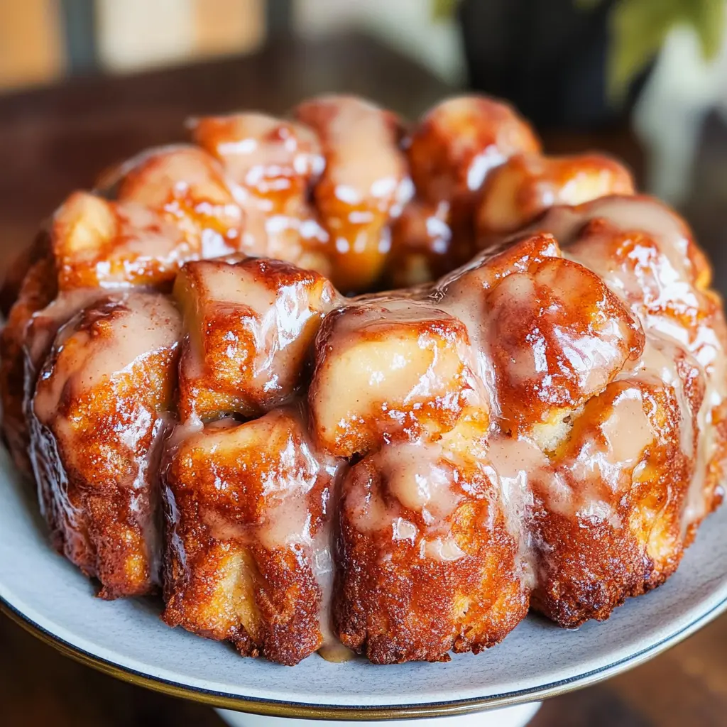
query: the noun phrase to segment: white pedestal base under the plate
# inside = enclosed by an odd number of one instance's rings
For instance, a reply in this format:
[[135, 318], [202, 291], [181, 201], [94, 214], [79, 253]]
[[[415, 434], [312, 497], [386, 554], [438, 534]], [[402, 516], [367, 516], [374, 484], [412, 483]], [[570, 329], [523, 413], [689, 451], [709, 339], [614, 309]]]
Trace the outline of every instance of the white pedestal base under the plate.
[[[515, 704], [514, 707], [503, 707], [500, 710], [489, 710], [487, 712], [475, 712], [471, 715], [460, 715], [458, 717], [435, 717], [426, 720], [415, 720], [424, 722], [422, 727], [525, 727], [535, 716], [540, 708], [541, 702], [529, 702], [528, 704]], [[230, 710], [215, 710], [230, 727], [386, 727], [396, 725], [403, 727], [405, 722], [390, 721], [384, 722], [331, 722], [326, 720], [296, 720], [286, 717], [262, 717], [260, 715], [248, 715], [244, 712], [230, 712]], [[411, 721], [414, 720], [409, 720]]]

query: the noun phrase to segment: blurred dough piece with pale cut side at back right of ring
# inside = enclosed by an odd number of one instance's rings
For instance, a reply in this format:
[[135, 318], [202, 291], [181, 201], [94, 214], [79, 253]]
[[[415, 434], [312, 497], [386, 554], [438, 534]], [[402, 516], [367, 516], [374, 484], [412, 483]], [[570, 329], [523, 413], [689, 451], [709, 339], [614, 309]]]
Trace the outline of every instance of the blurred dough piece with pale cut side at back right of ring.
[[475, 214], [479, 241], [518, 230], [555, 204], [582, 204], [610, 194], [632, 194], [630, 172], [601, 154], [516, 154], [493, 169]]

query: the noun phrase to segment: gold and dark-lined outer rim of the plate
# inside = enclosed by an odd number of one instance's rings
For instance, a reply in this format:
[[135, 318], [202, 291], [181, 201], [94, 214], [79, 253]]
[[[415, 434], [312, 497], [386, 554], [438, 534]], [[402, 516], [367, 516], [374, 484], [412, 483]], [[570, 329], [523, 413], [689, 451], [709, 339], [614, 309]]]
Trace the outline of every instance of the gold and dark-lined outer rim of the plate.
[[[64, 656], [74, 659], [87, 667], [121, 679], [125, 682], [141, 686], [153, 691], [175, 696], [182, 699], [190, 699], [193, 702], [208, 704], [211, 707], [220, 707], [238, 712], [249, 712], [252, 714], [266, 715], [271, 717], [288, 717], [298, 719], [315, 720], [408, 720], [417, 718], [452, 717], [456, 715], [470, 714], [482, 710], [490, 710], [498, 707], [509, 707], [513, 704], [525, 702], [538, 702], [551, 696], [566, 694], [576, 689], [591, 686], [611, 678], [617, 674], [637, 667], [647, 662], [667, 649], [680, 643], [690, 635], [706, 626], [717, 618], [724, 611], [727, 611], [727, 598], [717, 603], [699, 619], [687, 624], [672, 635], [664, 638], [641, 651], [627, 656], [624, 659], [606, 664], [603, 667], [564, 679], [558, 682], [545, 684], [537, 688], [513, 691], [508, 694], [484, 697], [482, 699], [465, 699], [457, 702], [433, 702], [432, 704], [402, 704], [396, 707], [331, 707], [321, 704], [304, 704], [298, 702], [277, 702], [273, 700], [252, 699], [233, 697], [220, 692], [208, 691], [193, 686], [166, 681], [160, 678], [151, 677], [134, 671], [122, 664], [100, 659], [94, 654], [89, 654], [81, 648], [71, 645], [56, 635], [47, 631], [39, 624], [34, 623], [27, 616], [17, 611], [11, 604], [0, 597], [0, 611], [18, 624], [27, 632], [39, 640], [60, 651]], [[382, 667], [385, 668], [385, 667]]]

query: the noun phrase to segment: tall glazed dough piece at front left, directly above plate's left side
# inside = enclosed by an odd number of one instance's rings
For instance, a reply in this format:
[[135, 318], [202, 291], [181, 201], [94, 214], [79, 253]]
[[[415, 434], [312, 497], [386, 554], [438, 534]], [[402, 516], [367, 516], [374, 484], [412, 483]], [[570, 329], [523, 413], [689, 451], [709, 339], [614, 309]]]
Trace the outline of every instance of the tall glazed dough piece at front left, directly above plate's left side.
[[103, 598], [158, 584], [156, 468], [181, 321], [160, 294], [108, 297], [61, 329], [32, 401], [31, 458], [60, 552]]

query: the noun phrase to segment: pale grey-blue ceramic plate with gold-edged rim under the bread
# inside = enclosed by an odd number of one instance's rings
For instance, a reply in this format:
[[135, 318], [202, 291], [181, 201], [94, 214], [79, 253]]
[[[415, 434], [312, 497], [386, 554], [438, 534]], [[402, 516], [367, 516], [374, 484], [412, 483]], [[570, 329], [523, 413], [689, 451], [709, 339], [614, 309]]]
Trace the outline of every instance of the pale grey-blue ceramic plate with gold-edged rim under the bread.
[[0, 606], [83, 662], [150, 688], [237, 710], [374, 719], [457, 714], [531, 702], [605, 679], [658, 654], [727, 608], [727, 507], [699, 531], [678, 574], [576, 632], [529, 616], [499, 646], [449, 664], [297, 667], [241, 659], [172, 630], [160, 603], [108, 603], [47, 542], [32, 493], [0, 454]]

